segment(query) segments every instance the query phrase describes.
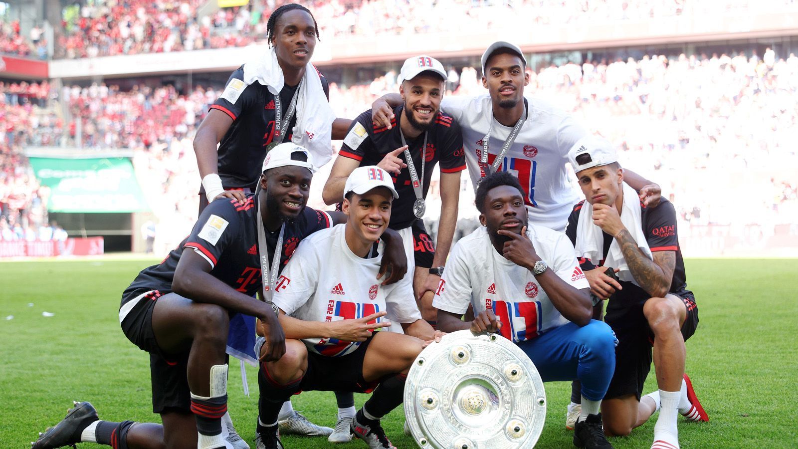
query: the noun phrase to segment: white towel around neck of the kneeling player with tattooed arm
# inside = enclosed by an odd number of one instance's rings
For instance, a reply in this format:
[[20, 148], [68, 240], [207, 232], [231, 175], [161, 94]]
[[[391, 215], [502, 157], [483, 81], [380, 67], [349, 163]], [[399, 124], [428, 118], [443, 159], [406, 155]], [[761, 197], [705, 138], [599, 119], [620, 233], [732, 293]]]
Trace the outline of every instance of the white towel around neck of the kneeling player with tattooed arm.
[[[640, 198], [638, 193], [634, 191], [629, 185], [623, 185], [623, 209], [621, 211], [621, 222], [629, 230], [629, 233], [637, 242], [638, 248], [648, 256], [649, 259], [654, 260], [651, 255], [651, 249], [646, 241], [646, 234], [643, 233], [642, 219], [640, 213]], [[579, 257], [586, 257], [594, 264], [599, 260], [604, 259], [604, 237], [602, 230], [596, 224], [593, 224], [593, 205], [584, 202], [582, 212], [579, 213], [579, 222], [576, 225], [576, 253]], [[638, 285], [634, 281], [634, 277], [629, 270], [629, 265], [623, 258], [621, 247], [618, 245], [618, 240], [612, 239], [610, 244], [610, 251], [607, 252], [606, 259], [604, 260], [605, 267], [618, 268], [618, 279], [625, 280]]]

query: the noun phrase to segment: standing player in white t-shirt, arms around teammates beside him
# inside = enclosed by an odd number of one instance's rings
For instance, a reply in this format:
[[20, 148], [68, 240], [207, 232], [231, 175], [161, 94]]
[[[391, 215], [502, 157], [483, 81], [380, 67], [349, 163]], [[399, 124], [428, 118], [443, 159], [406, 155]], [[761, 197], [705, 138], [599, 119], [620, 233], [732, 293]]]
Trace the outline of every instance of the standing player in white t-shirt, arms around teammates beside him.
[[[527, 61], [518, 46], [494, 42], [482, 55], [482, 85], [488, 93], [476, 97], [449, 95], [440, 102], [440, 109], [460, 125], [465, 161], [475, 190], [480, 177], [486, 174], [513, 173], [523, 188], [523, 201], [532, 221], [564, 232], [577, 201], [565, 165], [568, 150], [588, 133], [562, 109], [546, 101], [523, 97], [523, 88], [529, 84], [526, 67]], [[400, 104], [401, 97], [396, 93], [387, 93], [374, 101], [375, 125], [390, 129], [393, 118], [390, 105]], [[522, 118], [524, 121], [519, 125]], [[494, 166], [496, 156], [516, 125], [519, 129], [515, 141]], [[480, 157], [488, 133], [488, 161], [482, 163]], [[625, 181], [640, 192], [646, 205], [658, 203], [658, 185], [628, 169]]]

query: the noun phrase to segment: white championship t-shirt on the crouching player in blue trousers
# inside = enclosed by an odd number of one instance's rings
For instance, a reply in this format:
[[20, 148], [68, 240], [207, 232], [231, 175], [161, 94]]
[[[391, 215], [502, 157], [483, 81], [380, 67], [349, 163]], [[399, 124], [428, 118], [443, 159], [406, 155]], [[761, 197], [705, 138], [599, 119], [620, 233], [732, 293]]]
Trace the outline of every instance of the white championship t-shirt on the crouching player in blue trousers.
[[[557, 276], [575, 288], [590, 287], [565, 234], [530, 224], [527, 236]], [[501, 334], [516, 343], [568, 322], [531, 271], [496, 252], [484, 227], [458, 240], [452, 248], [433, 306], [463, 314], [469, 302], [475, 316], [491, 308], [502, 323]]]

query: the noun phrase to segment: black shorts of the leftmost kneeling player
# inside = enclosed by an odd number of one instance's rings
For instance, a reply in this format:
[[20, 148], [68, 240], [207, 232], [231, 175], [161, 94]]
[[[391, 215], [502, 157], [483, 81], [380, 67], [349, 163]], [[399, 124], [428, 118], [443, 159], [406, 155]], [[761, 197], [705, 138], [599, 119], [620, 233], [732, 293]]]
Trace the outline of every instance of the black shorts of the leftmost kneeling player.
[[[130, 296], [144, 299], [132, 309], [122, 322], [122, 332], [128, 340], [142, 351], [149, 352], [150, 377], [152, 379], [152, 412], [163, 413], [168, 408], [191, 412], [191, 390], [186, 377], [188, 370], [188, 351], [181, 354], [164, 354], [152, 331], [152, 310], [160, 293], [133, 292]], [[167, 293], [176, 295], [176, 293]]]

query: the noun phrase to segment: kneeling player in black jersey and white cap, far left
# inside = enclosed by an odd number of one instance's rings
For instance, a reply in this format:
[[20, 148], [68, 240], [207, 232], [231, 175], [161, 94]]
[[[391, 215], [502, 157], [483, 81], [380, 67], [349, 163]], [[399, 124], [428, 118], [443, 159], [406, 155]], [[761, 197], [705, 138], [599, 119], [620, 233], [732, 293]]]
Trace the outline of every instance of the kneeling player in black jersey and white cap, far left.
[[[346, 221], [342, 213], [305, 207], [312, 177], [309, 153], [294, 144], [281, 147], [265, 161], [260, 182], [265, 192], [243, 202], [209, 205], [180, 246], [161, 264], [140, 272], [123, 293], [120, 324], [133, 344], [150, 353], [153, 411], [161, 415], [163, 426], [100, 421], [90, 403], [76, 403], [61, 423], [40, 436], [35, 449], [81, 441], [121, 449], [227, 447], [220, 419], [227, 410], [224, 348], [230, 314], [262, 320], [267, 335], [263, 360], [279, 360], [285, 351], [274, 309], [253, 297], [263, 285], [259, 220], [267, 240], [263, 256], [273, 260], [279, 250], [280, 268], [303, 237]], [[283, 243], [268, 243], [281, 228]], [[404, 275], [404, 250], [396, 233], [393, 239], [386, 237], [390, 248], [385, 258], [400, 260], [382, 266], [383, 273], [391, 268], [385, 282], [392, 282]]]

